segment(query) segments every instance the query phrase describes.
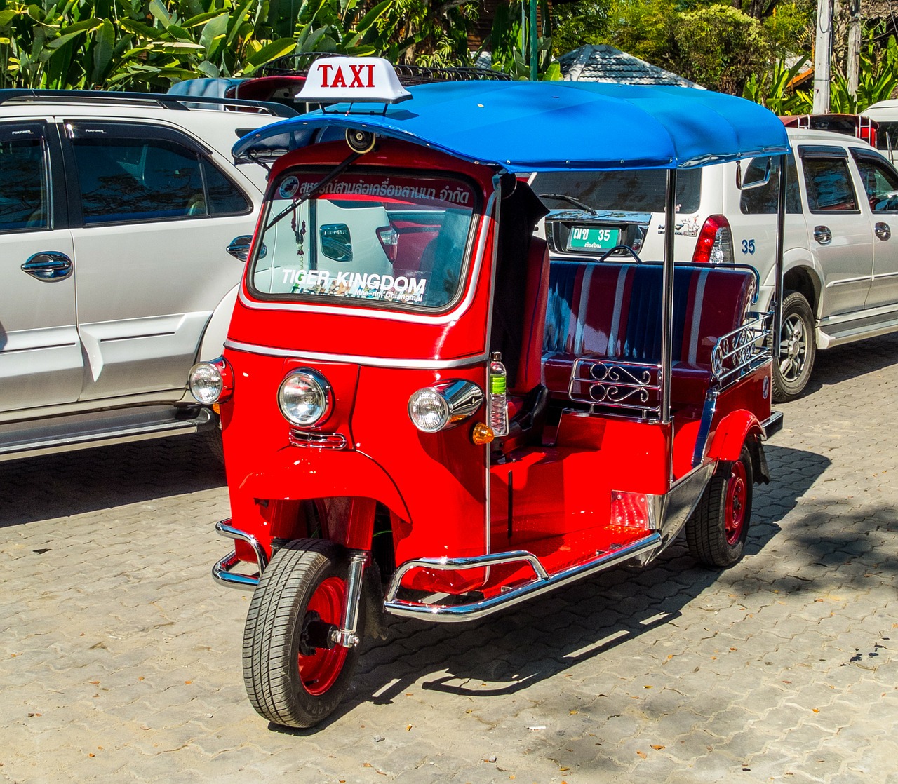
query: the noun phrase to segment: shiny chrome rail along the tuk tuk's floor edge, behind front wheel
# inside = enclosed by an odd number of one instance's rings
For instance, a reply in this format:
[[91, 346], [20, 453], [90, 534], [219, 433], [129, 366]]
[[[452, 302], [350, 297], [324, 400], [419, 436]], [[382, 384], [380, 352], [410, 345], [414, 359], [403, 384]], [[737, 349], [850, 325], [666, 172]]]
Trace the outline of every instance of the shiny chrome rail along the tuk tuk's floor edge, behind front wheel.
[[[594, 559], [577, 566], [564, 569], [557, 574], [550, 575], [532, 552], [517, 550], [509, 552], [497, 552], [492, 555], [480, 555], [472, 558], [421, 558], [408, 560], [393, 573], [390, 586], [387, 588], [386, 598], [383, 601], [384, 609], [393, 615], [404, 618], [421, 618], [428, 621], [473, 621], [489, 615], [497, 610], [510, 607], [512, 604], [523, 602], [545, 593], [566, 583], [573, 582], [581, 577], [587, 577], [595, 572], [615, 566], [622, 561], [634, 558], [640, 554], [648, 553], [659, 548], [662, 544], [660, 533], [647, 534], [638, 542], [632, 542], [625, 547], [612, 551], [600, 551]], [[498, 564], [526, 563], [533, 569], [534, 577], [520, 586], [510, 588], [504, 594], [482, 599], [480, 602], [465, 604], [425, 604], [409, 602], [405, 599], [397, 599], [402, 577], [412, 568], [428, 568], [438, 571], [455, 571]]]

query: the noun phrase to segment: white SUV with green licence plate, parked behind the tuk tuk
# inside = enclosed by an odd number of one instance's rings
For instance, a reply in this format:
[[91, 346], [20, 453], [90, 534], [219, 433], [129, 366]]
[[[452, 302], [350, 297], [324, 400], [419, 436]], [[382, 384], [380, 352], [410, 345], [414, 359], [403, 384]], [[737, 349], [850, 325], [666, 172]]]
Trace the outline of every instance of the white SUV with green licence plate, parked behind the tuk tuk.
[[[857, 138], [794, 128], [788, 137], [777, 401], [805, 389], [816, 348], [898, 330], [898, 172]], [[677, 177], [675, 259], [753, 266], [759, 310], [773, 293], [778, 181], [776, 157]], [[663, 257], [665, 172], [538, 174], [532, 185], [552, 210], [545, 230], [553, 257], [598, 259], [615, 245], [642, 260]]]

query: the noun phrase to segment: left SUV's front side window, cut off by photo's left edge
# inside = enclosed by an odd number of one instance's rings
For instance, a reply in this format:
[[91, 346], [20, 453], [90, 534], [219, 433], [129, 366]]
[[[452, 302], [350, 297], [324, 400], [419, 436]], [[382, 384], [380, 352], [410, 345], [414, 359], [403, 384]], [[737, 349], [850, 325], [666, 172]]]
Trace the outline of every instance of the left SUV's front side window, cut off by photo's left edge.
[[0, 129], [0, 232], [48, 228], [47, 168], [40, 129]]

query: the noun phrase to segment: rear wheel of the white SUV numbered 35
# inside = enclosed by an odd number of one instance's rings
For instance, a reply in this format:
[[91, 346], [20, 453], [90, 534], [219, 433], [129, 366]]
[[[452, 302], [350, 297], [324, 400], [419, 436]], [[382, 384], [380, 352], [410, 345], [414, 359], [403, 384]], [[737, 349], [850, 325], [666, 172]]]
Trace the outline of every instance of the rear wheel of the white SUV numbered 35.
[[783, 299], [779, 335], [779, 357], [773, 362], [773, 401], [785, 403], [805, 391], [817, 353], [814, 312], [805, 295], [791, 291]]

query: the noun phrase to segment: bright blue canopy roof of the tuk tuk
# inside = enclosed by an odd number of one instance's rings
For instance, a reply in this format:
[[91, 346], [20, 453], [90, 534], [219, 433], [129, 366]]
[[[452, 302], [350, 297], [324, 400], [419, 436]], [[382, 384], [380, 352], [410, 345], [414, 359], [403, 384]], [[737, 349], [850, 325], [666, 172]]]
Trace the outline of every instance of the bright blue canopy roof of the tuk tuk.
[[[787, 152], [786, 129], [751, 101], [674, 86], [576, 82], [448, 82], [371, 113], [330, 106], [260, 128], [238, 161], [313, 143], [321, 128], [362, 128], [508, 172], [675, 168]], [[380, 106], [378, 106], [378, 110]]]

